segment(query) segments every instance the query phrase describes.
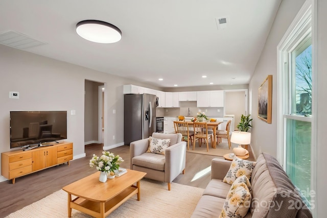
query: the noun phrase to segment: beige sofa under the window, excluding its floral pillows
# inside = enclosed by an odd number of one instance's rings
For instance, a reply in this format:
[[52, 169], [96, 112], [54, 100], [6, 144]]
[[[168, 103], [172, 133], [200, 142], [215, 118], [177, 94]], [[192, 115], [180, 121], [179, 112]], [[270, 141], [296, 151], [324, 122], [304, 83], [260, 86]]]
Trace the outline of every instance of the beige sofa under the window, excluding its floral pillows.
[[[231, 161], [213, 159], [211, 181], [192, 217], [218, 217], [230, 185], [222, 182]], [[282, 166], [272, 156], [262, 153], [251, 174], [251, 205], [245, 217], [312, 217]], [[228, 216], [226, 216], [228, 217]]]

